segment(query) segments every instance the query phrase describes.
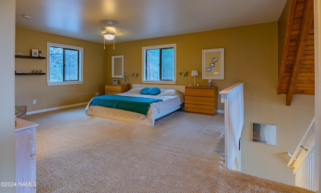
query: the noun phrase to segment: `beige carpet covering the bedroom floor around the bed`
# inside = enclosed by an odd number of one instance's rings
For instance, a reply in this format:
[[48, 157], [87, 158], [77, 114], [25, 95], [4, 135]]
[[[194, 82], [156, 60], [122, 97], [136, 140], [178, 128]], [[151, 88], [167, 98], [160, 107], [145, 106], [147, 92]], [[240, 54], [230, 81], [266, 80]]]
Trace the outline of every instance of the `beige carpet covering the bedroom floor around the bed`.
[[223, 114], [146, 126], [84, 108], [24, 117], [39, 123], [37, 192], [311, 192], [224, 168]]

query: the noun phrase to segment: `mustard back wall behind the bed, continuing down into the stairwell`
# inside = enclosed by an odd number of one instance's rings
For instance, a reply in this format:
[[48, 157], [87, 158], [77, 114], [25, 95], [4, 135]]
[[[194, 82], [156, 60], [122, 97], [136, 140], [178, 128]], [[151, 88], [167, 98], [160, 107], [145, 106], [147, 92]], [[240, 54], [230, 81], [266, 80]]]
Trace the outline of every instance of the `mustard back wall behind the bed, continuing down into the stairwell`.
[[[226, 28], [198, 33], [144, 39], [107, 46], [106, 82], [112, 83], [111, 56], [124, 55], [124, 71], [129, 83], [141, 83], [141, 47], [177, 43], [177, 71], [185, 68], [191, 74], [199, 71], [202, 80], [202, 49], [225, 48], [224, 80], [212, 80], [219, 91], [244, 81], [244, 126], [241, 139], [243, 172], [294, 184], [292, 169], [286, 164], [288, 151], [293, 152], [314, 115], [314, 96], [294, 95], [290, 106], [285, 95], [277, 95], [278, 82], [278, 26], [277, 22]], [[130, 74], [137, 70], [139, 77]], [[124, 79], [120, 79], [121, 82]], [[177, 83], [193, 83], [193, 76], [178, 75]], [[218, 108], [224, 104], [218, 96]], [[304, 112], [304, 113], [302, 113]], [[251, 142], [251, 123], [277, 125], [277, 145]]]

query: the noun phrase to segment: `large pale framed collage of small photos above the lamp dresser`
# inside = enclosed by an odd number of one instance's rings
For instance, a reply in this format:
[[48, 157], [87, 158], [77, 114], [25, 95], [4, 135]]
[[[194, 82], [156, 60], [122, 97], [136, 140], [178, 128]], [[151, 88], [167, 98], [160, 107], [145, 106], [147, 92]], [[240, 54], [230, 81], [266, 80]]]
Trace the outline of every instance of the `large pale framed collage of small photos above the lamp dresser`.
[[224, 79], [224, 48], [202, 50], [202, 79]]

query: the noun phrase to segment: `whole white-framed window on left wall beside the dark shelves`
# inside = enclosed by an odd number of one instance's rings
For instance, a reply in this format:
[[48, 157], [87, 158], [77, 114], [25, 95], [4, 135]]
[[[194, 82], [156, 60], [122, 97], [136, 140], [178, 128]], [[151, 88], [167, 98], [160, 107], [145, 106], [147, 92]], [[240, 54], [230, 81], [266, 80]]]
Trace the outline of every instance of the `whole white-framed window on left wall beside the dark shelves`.
[[83, 48], [47, 42], [48, 85], [83, 82]]

